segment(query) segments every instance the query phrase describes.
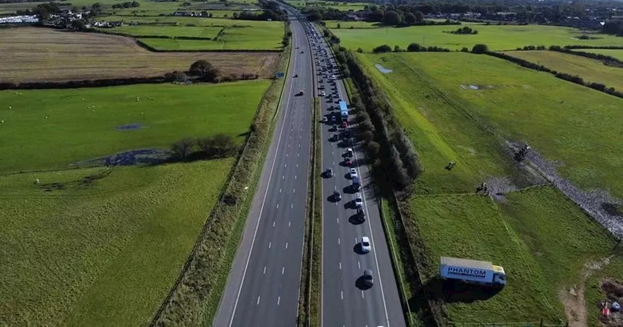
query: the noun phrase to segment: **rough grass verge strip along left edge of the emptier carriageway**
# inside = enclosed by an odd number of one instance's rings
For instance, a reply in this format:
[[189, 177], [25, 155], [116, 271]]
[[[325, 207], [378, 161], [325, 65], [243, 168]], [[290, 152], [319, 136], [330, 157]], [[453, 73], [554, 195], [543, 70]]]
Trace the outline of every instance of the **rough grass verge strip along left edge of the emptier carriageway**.
[[[291, 47], [285, 48], [278, 70], [286, 72]], [[244, 222], [270, 145], [285, 78], [274, 80], [262, 98], [254, 119], [255, 128], [232, 170], [222, 195], [233, 197], [233, 205], [219, 202], [206, 222], [197, 246], [181, 272], [176, 286], [156, 314], [156, 326], [208, 326], [221, 300], [222, 290], [234, 260]], [[222, 200], [222, 197], [221, 197]]]

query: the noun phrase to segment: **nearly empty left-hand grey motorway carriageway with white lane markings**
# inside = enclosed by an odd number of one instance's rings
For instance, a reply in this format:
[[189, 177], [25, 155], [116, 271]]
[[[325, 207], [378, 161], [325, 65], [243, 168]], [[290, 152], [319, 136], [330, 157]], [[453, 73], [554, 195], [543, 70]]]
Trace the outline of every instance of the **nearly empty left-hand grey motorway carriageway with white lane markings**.
[[[301, 276], [313, 84], [303, 25], [292, 54], [273, 140], [214, 326], [295, 326]], [[298, 77], [293, 77], [298, 74]], [[303, 95], [297, 95], [303, 91]]]

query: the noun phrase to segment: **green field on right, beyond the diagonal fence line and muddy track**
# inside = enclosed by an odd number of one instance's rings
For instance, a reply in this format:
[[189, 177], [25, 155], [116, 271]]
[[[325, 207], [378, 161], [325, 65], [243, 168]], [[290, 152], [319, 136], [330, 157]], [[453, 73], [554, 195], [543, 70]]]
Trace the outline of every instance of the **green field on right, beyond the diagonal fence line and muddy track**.
[[[398, 72], [381, 74], [374, 69], [376, 75], [387, 80], [384, 83], [396, 81], [391, 84], [396, 91], [390, 92], [404, 98], [405, 103], [418, 103], [426, 92], [437, 92], [421, 89], [417, 91], [419, 97], [414, 98], [416, 91], [409, 88], [407, 92], [399, 87], [412, 85], [421, 76], [444, 90], [448, 101], [457, 102], [461, 110], [479, 116], [506, 139], [526, 141], [546, 158], [558, 162], [559, 174], [577, 186], [605, 189], [613, 196], [623, 196], [623, 182], [616, 177], [623, 162], [623, 145], [619, 142], [623, 112], [618, 110], [619, 98], [486, 55], [422, 53], [360, 57], [370, 67], [381, 63]], [[477, 85], [480, 89], [465, 90], [461, 85]], [[386, 89], [391, 87], [388, 85]], [[433, 103], [431, 107], [436, 109], [437, 105]], [[423, 111], [427, 112], [426, 108]], [[472, 143], [468, 143], [470, 137], [457, 140], [465, 142], [467, 145], [459, 143], [465, 148], [472, 148]], [[471, 156], [471, 151], [464, 149], [460, 154]]]

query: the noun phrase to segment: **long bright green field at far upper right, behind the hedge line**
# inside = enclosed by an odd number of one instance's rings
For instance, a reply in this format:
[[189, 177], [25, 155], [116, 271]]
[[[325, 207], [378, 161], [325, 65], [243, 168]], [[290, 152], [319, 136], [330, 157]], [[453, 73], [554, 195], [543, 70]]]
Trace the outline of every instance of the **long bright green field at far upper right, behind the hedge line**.
[[340, 22], [341, 28], [330, 25], [331, 31], [339, 37], [341, 44], [349, 49], [361, 47], [365, 52], [371, 52], [374, 47], [388, 44], [392, 48], [399, 45], [402, 49], [411, 43], [421, 45], [436, 45], [451, 50], [460, 50], [462, 47], [472, 49], [473, 45], [487, 44], [490, 50], [515, 50], [524, 45], [623, 45], [621, 37], [596, 34], [599, 39], [580, 40], [578, 36], [586, 32], [571, 27], [558, 26], [485, 26], [470, 24], [478, 31], [476, 35], [460, 35], [444, 33], [455, 31], [460, 26], [412, 26], [412, 27], [378, 27], [350, 29], [350, 26], [370, 27], [370, 23]]

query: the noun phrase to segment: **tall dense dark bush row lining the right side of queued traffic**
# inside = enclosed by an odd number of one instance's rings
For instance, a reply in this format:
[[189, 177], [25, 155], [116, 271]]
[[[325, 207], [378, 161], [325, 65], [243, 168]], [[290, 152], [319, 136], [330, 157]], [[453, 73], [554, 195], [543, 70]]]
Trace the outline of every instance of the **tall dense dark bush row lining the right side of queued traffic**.
[[[325, 35], [331, 32], [325, 28]], [[361, 136], [378, 184], [406, 195], [421, 171], [411, 141], [394, 115], [384, 91], [377, 87], [359, 64], [356, 55], [333, 42], [336, 61], [343, 77], [351, 77], [359, 88], [359, 97], [351, 97], [351, 107], [358, 114]]]

